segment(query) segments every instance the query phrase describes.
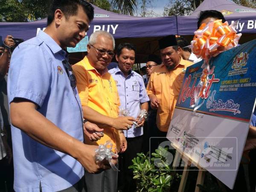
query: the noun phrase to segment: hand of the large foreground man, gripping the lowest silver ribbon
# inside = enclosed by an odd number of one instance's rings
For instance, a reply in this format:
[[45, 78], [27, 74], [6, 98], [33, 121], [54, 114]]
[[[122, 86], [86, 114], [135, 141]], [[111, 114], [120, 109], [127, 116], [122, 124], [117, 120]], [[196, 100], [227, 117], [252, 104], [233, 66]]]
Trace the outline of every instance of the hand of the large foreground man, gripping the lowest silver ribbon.
[[[98, 163], [95, 162], [95, 150], [97, 148], [98, 146], [96, 145], [86, 144], [83, 144], [83, 146], [79, 148], [77, 160], [89, 173], [96, 173], [99, 172], [101, 169], [111, 169], [110, 164], [105, 159]], [[116, 164], [118, 155], [113, 156], [112, 158], [112, 162]]]

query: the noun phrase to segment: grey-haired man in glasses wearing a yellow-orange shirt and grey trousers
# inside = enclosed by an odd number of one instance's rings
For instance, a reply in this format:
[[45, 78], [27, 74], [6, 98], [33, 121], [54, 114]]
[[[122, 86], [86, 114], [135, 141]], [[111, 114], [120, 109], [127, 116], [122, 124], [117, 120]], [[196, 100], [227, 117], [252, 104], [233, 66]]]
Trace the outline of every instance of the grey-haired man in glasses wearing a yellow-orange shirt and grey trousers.
[[[119, 130], [131, 128], [135, 119], [118, 117], [120, 103], [116, 83], [106, 68], [114, 56], [113, 49], [114, 39], [110, 33], [94, 32], [87, 45], [88, 55], [73, 65], [73, 70], [84, 119], [96, 123], [102, 128], [100, 131], [104, 131], [104, 135], [101, 135], [97, 132], [92, 133], [93, 130], [90, 129], [85, 130], [85, 133], [90, 133], [85, 134], [85, 143], [100, 145], [111, 141], [113, 152], [118, 153], [124, 152], [127, 148], [125, 136]], [[116, 191], [117, 173], [113, 169], [103, 170], [97, 174], [85, 172], [87, 192]]]

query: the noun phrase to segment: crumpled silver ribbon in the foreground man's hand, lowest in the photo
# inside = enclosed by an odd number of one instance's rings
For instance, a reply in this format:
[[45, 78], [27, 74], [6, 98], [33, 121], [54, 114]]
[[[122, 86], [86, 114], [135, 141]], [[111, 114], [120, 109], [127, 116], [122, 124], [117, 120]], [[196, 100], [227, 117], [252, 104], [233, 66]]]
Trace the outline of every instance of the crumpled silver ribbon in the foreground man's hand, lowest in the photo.
[[107, 141], [105, 145], [100, 144], [99, 147], [95, 150], [95, 162], [102, 161], [106, 159], [110, 164], [111, 168], [114, 171], [119, 171], [115, 164], [112, 162], [112, 156], [116, 156], [112, 150], [113, 144], [110, 141]]

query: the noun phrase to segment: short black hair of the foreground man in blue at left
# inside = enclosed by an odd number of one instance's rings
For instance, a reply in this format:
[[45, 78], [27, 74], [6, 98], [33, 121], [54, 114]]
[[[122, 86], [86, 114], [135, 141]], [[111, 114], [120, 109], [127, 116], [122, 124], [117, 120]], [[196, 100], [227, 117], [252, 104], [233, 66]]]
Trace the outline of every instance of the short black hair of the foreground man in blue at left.
[[47, 26], [49, 26], [54, 20], [54, 14], [56, 9], [60, 9], [65, 18], [68, 19], [69, 16], [76, 15], [78, 6], [81, 6], [84, 9], [87, 17], [90, 21], [94, 17], [94, 8], [93, 6], [85, 0], [53, 0], [49, 8], [48, 17], [47, 17]]

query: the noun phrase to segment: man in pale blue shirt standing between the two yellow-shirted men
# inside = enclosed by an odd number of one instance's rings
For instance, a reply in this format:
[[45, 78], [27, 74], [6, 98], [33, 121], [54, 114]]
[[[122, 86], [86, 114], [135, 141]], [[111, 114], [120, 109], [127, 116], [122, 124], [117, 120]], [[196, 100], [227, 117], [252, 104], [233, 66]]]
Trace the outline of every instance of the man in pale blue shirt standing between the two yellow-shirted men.
[[116, 52], [118, 66], [108, 72], [116, 81], [121, 103], [120, 109], [128, 109], [130, 116], [137, 118], [137, 124], [139, 125], [139, 127], [132, 125], [129, 130], [124, 131], [127, 150], [122, 150], [123, 154], [119, 158], [118, 189], [123, 192], [131, 192], [135, 190], [136, 183], [133, 180], [133, 172], [128, 169], [128, 166], [132, 164], [131, 160], [137, 156], [137, 153], [142, 151], [145, 119], [139, 121], [138, 114], [142, 109], [148, 111], [149, 98], [142, 76], [132, 70], [136, 52], [134, 45], [129, 43], [119, 44]]

